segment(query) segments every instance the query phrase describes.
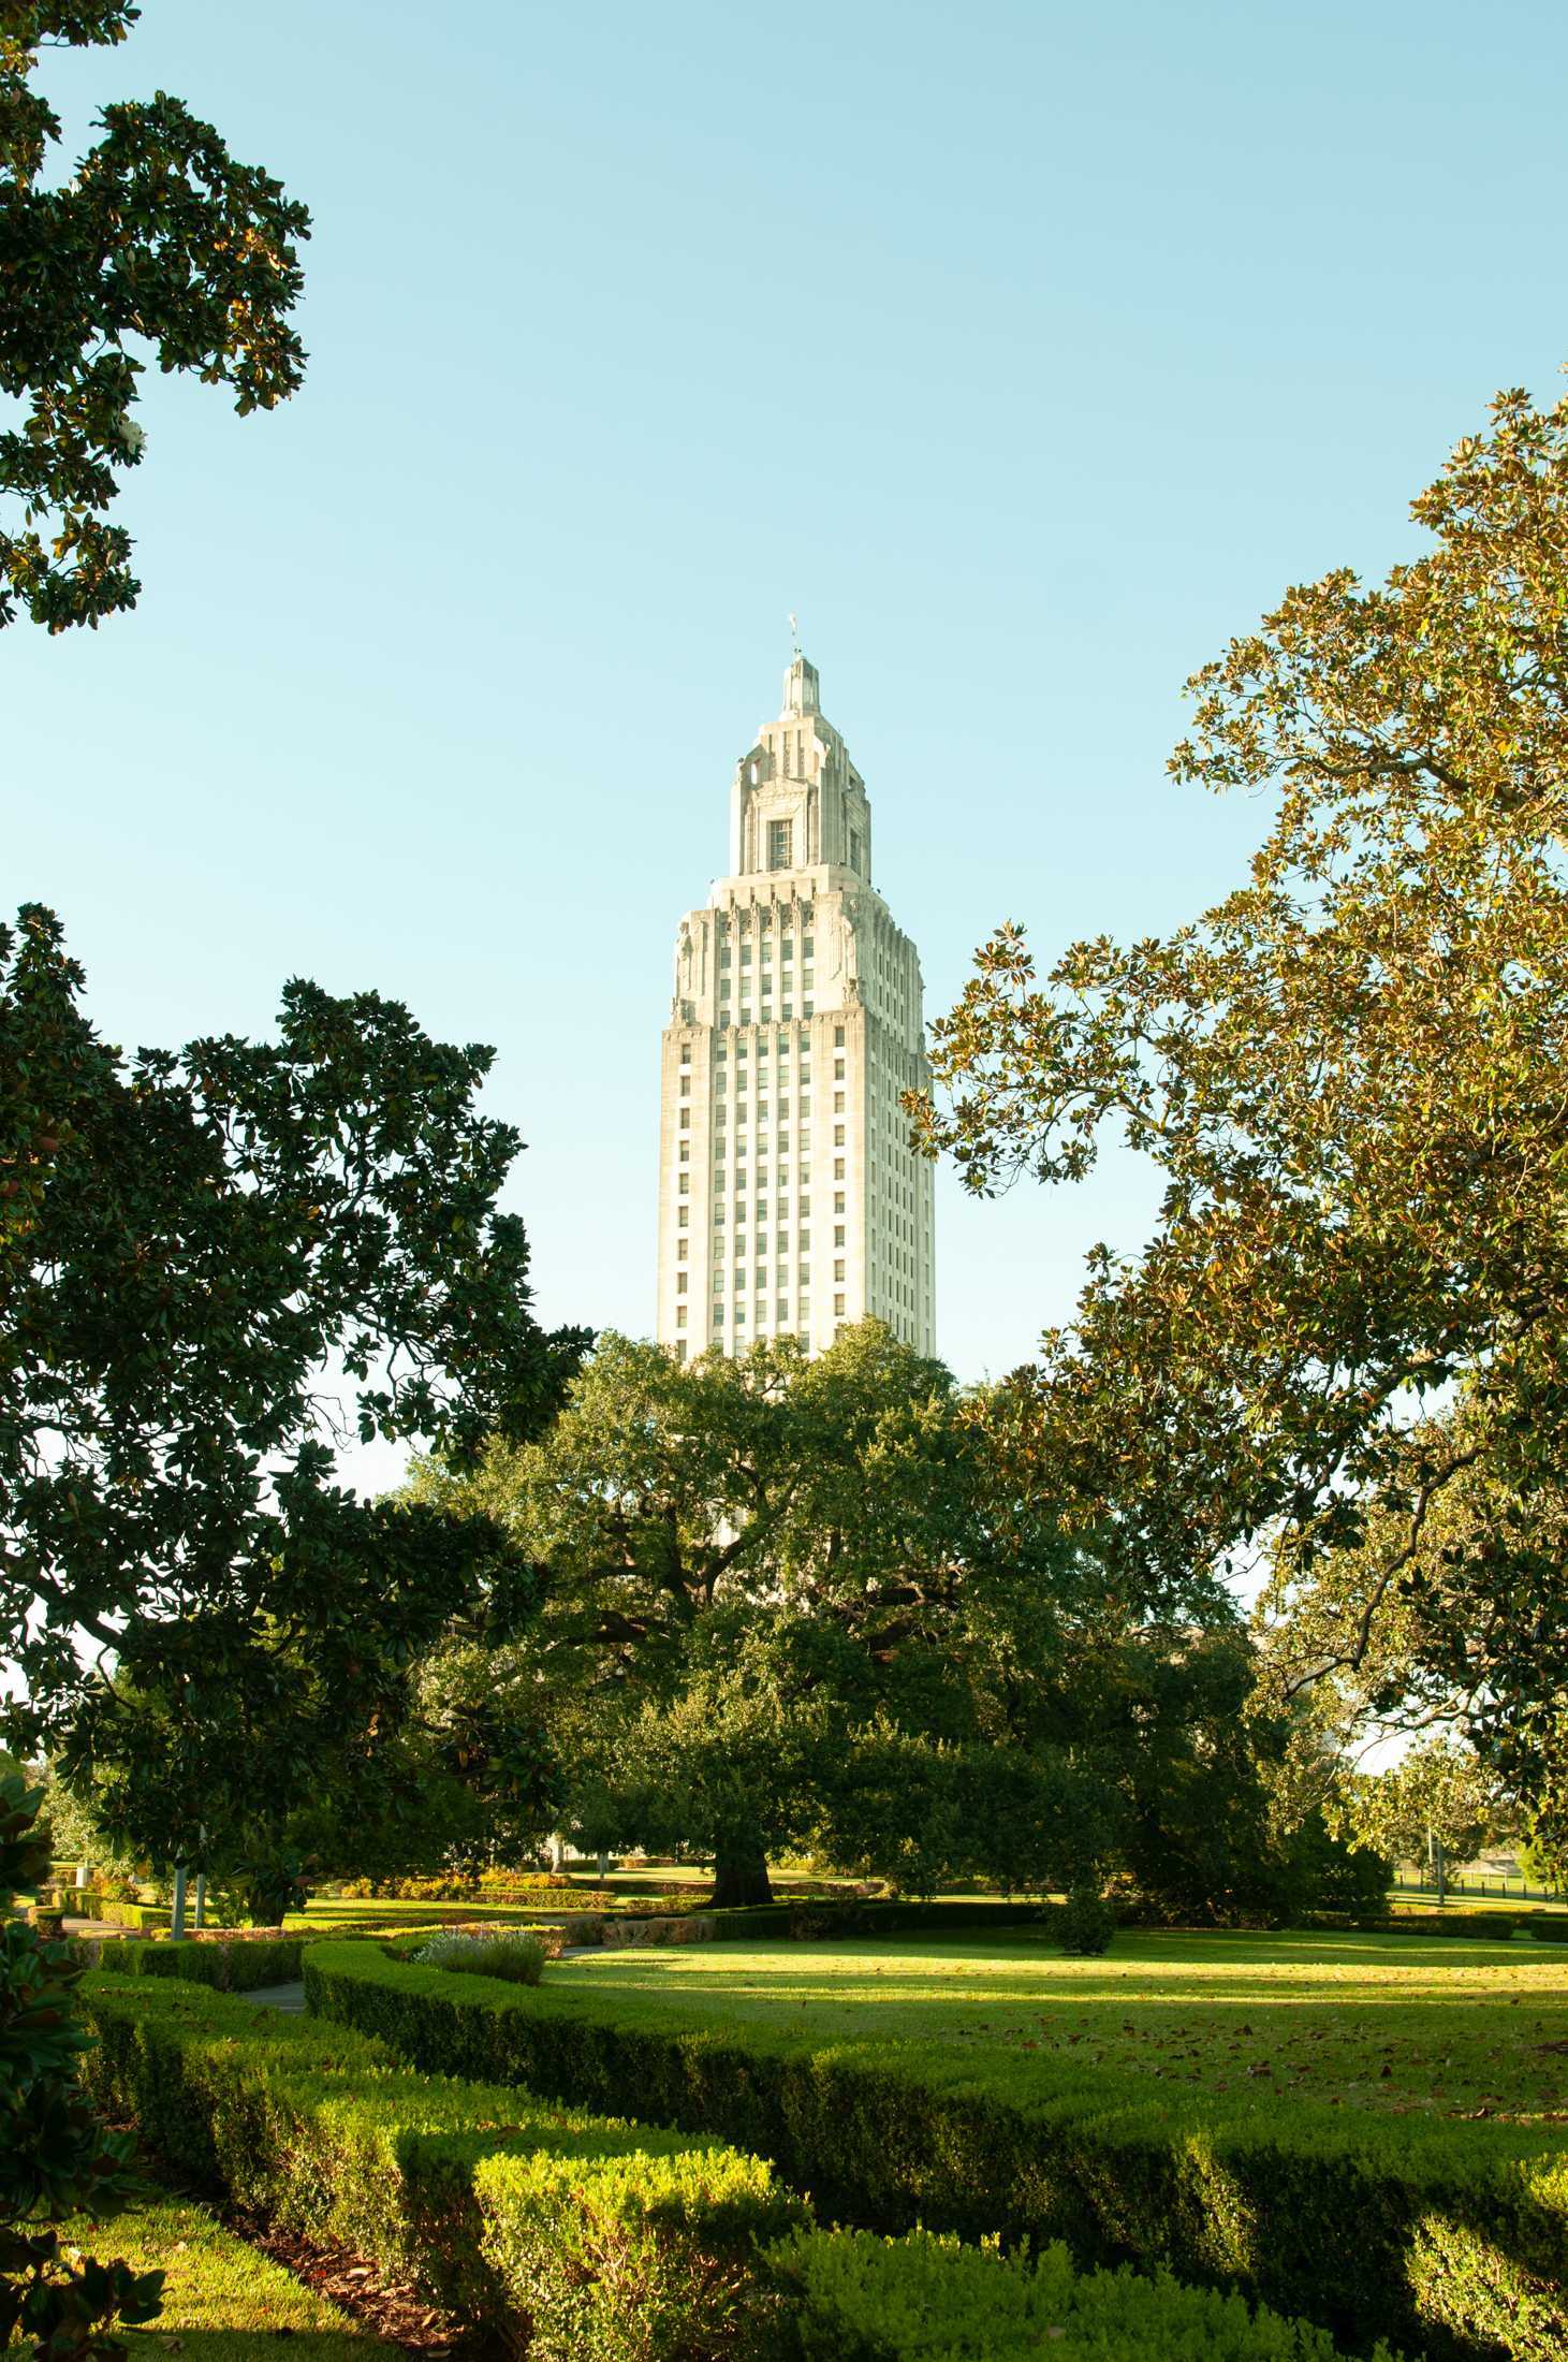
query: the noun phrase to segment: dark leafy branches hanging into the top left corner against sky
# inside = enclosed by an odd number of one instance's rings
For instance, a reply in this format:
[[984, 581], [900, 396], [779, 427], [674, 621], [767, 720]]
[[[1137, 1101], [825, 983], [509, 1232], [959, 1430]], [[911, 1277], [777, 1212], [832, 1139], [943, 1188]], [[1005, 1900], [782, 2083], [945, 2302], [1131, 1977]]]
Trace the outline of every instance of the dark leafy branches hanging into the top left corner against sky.
[[132, 607], [130, 534], [106, 520], [142, 458], [132, 418], [151, 352], [163, 371], [234, 387], [241, 416], [300, 385], [288, 326], [305, 205], [236, 163], [210, 123], [158, 92], [102, 113], [104, 137], [66, 184], [45, 175], [61, 128], [33, 87], [45, 47], [125, 40], [132, 0], [0, 0], [0, 626], [19, 607], [50, 631]]

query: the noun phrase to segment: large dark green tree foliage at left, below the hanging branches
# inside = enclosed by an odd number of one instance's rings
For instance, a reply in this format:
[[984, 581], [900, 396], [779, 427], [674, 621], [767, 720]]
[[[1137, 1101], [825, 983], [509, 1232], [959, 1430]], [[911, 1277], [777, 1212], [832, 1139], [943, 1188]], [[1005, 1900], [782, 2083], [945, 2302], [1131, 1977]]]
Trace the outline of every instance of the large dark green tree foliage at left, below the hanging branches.
[[243, 1859], [373, 1779], [420, 1653], [531, 1573], [482, 1519], [333, 1483], [324, 1401], [460, 1464], [553, 1412], [486, 1049], [290, 983], [276, 1042], [125, 1061], [59, 921], [0, 931], [0, 1722], [104, 1828]]

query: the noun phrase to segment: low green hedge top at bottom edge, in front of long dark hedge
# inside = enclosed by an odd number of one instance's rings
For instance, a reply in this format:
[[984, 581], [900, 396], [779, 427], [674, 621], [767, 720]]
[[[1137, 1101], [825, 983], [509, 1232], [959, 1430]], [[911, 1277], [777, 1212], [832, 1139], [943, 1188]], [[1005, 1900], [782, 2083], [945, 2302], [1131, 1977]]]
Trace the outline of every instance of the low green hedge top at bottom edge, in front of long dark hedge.
[[[1077, 2275], [1067, 2249], [1001, 2256], [994, 2244], [912, 2232], [796, 2232], [770, 2253], [791, 2303], [793, 2350], [812, 2362], [1332, 2362], [1327, 2329], [1183, 2289], [1169, 2272]], [[1374, 2362], [1391, 2362], [1374, 2348]]]

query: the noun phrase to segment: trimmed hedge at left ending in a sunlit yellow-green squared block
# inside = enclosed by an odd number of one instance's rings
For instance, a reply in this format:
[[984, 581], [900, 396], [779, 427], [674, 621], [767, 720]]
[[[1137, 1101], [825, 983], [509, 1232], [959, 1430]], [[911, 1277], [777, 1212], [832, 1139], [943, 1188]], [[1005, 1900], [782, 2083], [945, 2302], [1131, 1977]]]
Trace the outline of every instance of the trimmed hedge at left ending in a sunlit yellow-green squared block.
[[373, 2256], [531, 2362], [720, 2362], [775, 2310], [758, 2246], [805, 2206], [758, 2157], [432, 2081], [184, 1982], [99, 1975], [85, 1998], [92, 2097], [182, 2178]]

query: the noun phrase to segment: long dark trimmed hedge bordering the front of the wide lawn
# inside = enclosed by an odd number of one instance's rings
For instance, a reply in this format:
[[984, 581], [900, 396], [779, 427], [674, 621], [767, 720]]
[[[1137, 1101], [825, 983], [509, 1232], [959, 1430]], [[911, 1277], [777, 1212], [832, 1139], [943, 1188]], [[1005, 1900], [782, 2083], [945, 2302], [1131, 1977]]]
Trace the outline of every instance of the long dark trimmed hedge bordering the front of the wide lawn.
[[[453, 1986], [458, 1986], [453, 1991]], [[1171, 2265], [1337, 2336], [1440, 2357], [1568, 2350], [1568, 2157], [1551, 2128], [1422, 2123], [1304, 2100], [1242, 2107], [1067, 2057], [680, 2027], [583, 1986], [520, 1994], [375, 1944], [314, 1944], [312, 2010], [442, 2074], [529, 2083], [775, 2159], [824, 2213], [978, 2239], [1065, 2239], [1082, 2265]]]

